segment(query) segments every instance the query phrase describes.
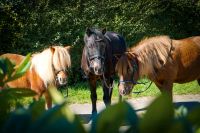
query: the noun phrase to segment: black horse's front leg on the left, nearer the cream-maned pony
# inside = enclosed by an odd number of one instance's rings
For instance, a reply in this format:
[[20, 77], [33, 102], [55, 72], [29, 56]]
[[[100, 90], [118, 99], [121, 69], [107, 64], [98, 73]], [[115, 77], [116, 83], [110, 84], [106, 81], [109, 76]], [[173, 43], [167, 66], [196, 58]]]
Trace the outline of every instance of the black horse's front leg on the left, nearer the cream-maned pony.
[[96, 92], [96, 79], [89, 78], [89, 85], [90, 85], [90, 98], [92, 101], [92, 116], [97, 114], [97, 92]]

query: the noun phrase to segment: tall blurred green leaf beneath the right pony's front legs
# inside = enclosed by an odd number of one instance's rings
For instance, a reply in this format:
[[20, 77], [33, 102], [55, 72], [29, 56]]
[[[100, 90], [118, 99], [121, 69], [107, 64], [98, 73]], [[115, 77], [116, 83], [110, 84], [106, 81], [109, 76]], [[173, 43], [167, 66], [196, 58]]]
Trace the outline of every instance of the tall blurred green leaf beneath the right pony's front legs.
[[167, 94], [156, 98], [147, 108], [141, 119], [139, 128], [141, 133], [167, 132], [172, 125], [174, 109], [172, 100]]

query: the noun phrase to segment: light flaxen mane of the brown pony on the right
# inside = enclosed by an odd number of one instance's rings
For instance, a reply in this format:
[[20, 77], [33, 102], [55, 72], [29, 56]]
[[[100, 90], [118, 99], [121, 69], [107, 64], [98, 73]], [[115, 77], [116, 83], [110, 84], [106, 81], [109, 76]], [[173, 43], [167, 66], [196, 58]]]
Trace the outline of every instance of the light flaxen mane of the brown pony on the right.
[[136, 46], [131, 47], [125, 54], [127, 57], [122, 57], [123, 59], [119, 60], [117, 71], [122, 75], [126, 74], [125, 67], [128, 65], [128, 57], [136, 57], [140, 63], [139, 75], [155, 76], [155, 69], [161, 68], [167, 62], [171, 48], [171, 39], [168, 36], [146, 38]]

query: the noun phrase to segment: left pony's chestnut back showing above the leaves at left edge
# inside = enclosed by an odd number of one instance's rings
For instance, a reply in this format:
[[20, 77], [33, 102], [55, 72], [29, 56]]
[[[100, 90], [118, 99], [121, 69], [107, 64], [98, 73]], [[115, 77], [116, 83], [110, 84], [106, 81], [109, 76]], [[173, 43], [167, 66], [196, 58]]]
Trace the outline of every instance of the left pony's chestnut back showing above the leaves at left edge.
[[24, 56], [22, 55], [19, 55], [19, 54], [11, 54], [11, 53], [8, 53], [8, 54], [3, 54], [1, 55], [0, 57], [2, 58], [7, 58], [9, 59], [11, 62], [13, 62], [14, 64], [20, 64], [21, 61], [25, 58]]

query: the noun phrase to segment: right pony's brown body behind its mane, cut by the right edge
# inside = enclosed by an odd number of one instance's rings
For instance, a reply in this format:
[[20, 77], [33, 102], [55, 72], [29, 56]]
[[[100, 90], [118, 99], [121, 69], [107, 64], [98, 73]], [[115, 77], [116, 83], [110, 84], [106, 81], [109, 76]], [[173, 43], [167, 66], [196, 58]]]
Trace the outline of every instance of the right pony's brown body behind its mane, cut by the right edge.
[[185, 82], [200, 78], [200, 36], [175, 40], [178, 59], [177, 81]]

